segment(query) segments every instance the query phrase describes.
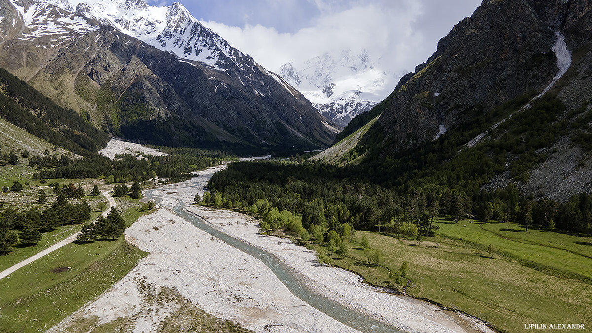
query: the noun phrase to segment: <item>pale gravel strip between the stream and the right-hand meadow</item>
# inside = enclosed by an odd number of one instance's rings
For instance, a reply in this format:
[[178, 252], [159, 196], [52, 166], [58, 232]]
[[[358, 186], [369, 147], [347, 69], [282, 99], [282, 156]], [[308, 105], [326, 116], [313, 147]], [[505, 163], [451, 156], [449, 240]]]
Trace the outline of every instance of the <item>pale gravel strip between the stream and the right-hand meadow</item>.
[[430, 303], [381, 292], [362, 283], [356, 274], [320, 265], [315, 251], [295, 245], [289, 239], [259, 235], [256, 222], [245, 214], [203, 206], [190, 206], [188, 210], [201, 216], [214, 228], [272, 252], [289, 267], [302, 274], [307, 285], [318, 294], [379, 321], [387, 322], [401, 331], [494, 332], [481, 321], [451, 316]]

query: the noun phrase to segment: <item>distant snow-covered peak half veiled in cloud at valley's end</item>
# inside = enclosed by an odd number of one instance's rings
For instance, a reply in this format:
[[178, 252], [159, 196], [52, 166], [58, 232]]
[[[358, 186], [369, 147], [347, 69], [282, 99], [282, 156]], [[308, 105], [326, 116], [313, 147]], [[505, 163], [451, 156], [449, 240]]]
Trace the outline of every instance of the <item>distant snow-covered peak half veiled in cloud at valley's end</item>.
[[371, 110], [390, 75], [379, 69], [368, 52], [344, 50], [324, 53], [304, 62], [290, 62], [278, 72], [327, 119], [346, 126], [358, 114]]

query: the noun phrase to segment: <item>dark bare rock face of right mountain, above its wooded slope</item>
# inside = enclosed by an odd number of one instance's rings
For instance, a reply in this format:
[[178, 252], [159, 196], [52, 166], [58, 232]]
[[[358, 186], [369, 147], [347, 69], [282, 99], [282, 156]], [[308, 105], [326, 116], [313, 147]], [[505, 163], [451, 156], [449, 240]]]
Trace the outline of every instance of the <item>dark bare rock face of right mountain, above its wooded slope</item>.
[[[484, 1], [385, 100], [390, 106], [379, 126], [390, 149], [413, 149], [436, 139], [463, 123], [477, 105], [491, 108], [554, 87], [567, 71], [568, 49], [585, 43], [577, 41], [583, 31], [574, 28], [590, 15], [589, 7], [586, 1]], [[493, 24], [491, 17], [501, 23]], [[564, 38], [563, 53], [556, 53]], [[564, 59], [558, 62], [558, 55]]]

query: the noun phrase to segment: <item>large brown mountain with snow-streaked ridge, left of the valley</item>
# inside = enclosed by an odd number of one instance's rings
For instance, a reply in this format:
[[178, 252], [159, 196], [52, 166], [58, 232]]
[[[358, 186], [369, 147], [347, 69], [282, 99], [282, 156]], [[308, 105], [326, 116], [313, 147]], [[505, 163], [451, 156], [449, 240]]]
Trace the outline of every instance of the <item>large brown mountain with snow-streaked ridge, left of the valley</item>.
[[159, 145], [318, 148], [336, 128], [182, 5], [0, 0], [0, 66], [96, 127]]

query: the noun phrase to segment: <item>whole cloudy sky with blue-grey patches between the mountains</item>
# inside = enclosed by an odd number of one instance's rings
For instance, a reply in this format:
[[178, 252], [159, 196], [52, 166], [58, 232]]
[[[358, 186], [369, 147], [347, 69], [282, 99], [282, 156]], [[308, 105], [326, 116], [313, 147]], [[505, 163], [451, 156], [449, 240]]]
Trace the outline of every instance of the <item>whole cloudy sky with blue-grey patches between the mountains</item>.
[[437, 41], [481, 4], [481, 0], [177, 1], [272, 71], [325, 52], [365, 49], [381, 69], [397, 77], [424, 62]]

